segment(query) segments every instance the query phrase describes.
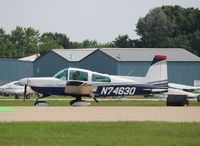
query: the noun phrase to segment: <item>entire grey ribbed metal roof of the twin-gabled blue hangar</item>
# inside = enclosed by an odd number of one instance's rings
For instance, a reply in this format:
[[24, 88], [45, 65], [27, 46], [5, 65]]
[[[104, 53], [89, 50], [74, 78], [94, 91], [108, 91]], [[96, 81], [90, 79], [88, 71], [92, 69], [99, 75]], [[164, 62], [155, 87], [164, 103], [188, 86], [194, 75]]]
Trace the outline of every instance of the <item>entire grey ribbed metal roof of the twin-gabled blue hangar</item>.
[[117, 61], [151, 61], [154, 55], [166, 55], [168, 61], [200, 61], [200, 58], [181, 48], [91, 48], [54, 49], [68, 61], [80, 61], [96, 50], [100, 50]]

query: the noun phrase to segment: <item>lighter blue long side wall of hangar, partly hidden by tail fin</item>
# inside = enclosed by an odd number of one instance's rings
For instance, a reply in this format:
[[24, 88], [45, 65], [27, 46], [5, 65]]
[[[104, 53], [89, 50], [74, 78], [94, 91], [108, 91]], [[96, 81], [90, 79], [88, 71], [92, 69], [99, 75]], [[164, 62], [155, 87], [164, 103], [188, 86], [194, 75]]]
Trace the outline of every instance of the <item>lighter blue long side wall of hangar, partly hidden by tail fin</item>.
[[[118, 74], [145, 76], [151, 62], [119, 62]], [[200, 62], [167, 62], [168, 81], [173, 83], [194, 85], [200, 80]]]

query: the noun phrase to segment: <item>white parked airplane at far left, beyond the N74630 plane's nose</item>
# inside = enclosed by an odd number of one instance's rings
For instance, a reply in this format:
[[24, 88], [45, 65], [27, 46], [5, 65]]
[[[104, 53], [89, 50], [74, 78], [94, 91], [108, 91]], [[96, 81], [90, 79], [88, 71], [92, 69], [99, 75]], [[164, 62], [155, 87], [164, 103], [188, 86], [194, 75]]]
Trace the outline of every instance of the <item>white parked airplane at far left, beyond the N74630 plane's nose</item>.
[[[19, 81], [13, 81], [7, 84], [0, 86], [0, 94], [4, 96], [15, 96], [15, 99], [19, 99], [20, 95], [24, 95], [24, 85]], [[30, 98], [30, 95], [33, 94], [33, 91], [28, 88], [26, 99]]]

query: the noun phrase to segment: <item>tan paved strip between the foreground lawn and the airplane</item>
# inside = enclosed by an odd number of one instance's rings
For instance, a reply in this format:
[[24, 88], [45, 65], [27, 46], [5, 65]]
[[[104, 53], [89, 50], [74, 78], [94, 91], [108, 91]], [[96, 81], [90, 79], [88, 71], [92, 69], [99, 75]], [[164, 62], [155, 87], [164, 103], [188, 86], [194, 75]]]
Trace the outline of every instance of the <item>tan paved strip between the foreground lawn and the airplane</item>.
[[200, 107], [11, 107], [0, 121], [200, 122]]

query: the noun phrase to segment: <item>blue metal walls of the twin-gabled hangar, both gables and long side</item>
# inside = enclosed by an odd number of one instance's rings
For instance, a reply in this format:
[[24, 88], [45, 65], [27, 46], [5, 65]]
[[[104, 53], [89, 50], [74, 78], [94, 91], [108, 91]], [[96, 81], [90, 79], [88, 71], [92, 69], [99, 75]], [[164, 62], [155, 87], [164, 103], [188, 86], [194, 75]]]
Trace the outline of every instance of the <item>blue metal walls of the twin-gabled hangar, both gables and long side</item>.
[[[34, 76], [52, 76], [66, 67], [80, 67], [107, 74], [145, 76], [151, 62], [119, 62], [96, 50], [80, 62], [69, 62], [49, 52], [34, 62]], [[200, 62], [168, 62], [169, 82], [193, 85], [200, 80]]]

